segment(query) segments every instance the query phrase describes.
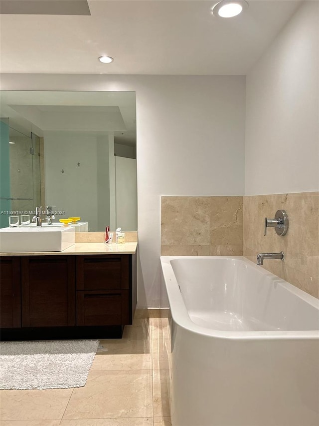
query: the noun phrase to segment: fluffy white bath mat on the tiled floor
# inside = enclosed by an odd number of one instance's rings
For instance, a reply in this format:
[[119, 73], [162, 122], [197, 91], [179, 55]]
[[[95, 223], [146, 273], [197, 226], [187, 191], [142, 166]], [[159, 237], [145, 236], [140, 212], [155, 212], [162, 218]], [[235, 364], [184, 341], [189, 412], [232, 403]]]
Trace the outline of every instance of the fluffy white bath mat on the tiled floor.
[[98, 340], [0, 343], [0, 389], [84, 386]]

